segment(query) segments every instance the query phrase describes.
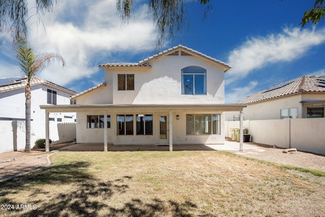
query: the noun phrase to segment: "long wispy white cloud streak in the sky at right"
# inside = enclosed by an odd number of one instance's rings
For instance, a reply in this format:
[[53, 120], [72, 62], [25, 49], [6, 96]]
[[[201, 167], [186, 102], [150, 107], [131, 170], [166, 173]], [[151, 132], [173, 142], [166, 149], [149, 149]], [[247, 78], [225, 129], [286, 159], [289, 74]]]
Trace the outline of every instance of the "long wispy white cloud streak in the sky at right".
[[249, 39], [230, 53], [228, 63], [233, 68], [228, 73], [226, 84], [269, 64], [302, 57], [311, 47], [324, 41], [325, 28], [284, 28], [278, 35]]

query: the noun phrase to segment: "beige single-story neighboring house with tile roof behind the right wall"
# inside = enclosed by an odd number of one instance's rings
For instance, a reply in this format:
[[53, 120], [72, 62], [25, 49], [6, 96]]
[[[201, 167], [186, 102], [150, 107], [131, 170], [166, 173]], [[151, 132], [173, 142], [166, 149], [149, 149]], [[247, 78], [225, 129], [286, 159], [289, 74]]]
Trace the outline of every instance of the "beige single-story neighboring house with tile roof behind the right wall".
[[[235, 103], [247, 104], [246, 120], [324, 117], [325, 77], [302, 76], [256, 92]], [[228, 113], [226, 120], [238, 120]]]

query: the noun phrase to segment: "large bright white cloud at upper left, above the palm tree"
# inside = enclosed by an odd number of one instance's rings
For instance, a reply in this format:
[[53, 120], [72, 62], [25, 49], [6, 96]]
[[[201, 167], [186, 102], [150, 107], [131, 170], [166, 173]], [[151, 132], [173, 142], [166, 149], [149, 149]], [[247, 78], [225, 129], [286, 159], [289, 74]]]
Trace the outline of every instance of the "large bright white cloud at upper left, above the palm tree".
[[[33, 13], [30, 11], [29, 15]], [[39, 20], [32, 16], [29, 40], [35, 50], [59, 53], [66, 60], [66, 67], [54, 63], [41, 72], [41, 77], [64, 86], [98, 72], [99, 64], [114, 61], [114, 52], [127, 52], [132, 57], [152, 50], [156, 35], [147, 14], [147, 6], [137, 3], [129, 23], [121, 24], [116, 0], [62, 0], [54, 14], [42, 16], [45, 27], [37, 25]]]

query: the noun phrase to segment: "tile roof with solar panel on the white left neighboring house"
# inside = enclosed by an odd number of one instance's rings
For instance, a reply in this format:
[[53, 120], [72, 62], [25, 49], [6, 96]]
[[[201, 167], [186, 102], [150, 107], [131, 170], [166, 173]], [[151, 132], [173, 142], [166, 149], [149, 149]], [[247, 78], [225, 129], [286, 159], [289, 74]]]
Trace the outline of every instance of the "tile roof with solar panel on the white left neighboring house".
[[[0, 82], [0, 83], [2, 83], [2, 85], [0, 86], [0, 92], [5, 92], [5, 91], [13, 90], [13, 89], [18, 89], [18, 88], [24, 88], [27, 84], [27, 79], [24, 76], [12, 77], [12, 78], [0, 78], [0, 81], [7, 81], [7, 80], [9, 80], [7, 85], [5, 85], [4, 82]], [[30, 86], [34, 86], [37, 84], [48, 84], [48, 85], [54, 86], [56, 88], [63, 89], [67, 92], [70, 92], [73, 95], [77, 94], [77, 92], [75, 92], [73, 90], [67, 89], [65, 87], [62, 87], [62, 86], [52, 83], [50, 81], [44, 80], [40, 77], [32, 76], [30, 79]]]

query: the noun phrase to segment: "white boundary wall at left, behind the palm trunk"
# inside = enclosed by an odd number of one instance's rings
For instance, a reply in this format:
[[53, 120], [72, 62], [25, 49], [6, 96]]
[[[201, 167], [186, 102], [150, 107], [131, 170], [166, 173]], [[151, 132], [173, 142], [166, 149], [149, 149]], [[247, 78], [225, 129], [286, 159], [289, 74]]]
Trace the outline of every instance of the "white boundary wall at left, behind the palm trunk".
[[[76, 138], [76, 123], [49, 123], [52, 144]], [[30, 125], [30, 146], [34, 147], [36, 140], [45, 139], [45, 122], [31, 121]], [[24, 120], [0, 120], [0, 153], [25, 149], [25, 132]]]

